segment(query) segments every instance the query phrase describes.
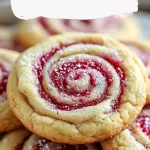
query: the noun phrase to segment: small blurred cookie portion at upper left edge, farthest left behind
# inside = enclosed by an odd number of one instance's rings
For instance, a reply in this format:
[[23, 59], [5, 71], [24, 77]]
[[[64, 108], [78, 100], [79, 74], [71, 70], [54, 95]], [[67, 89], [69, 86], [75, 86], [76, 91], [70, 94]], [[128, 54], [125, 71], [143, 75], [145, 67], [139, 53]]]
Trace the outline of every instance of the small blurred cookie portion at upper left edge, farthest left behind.
[[22, 46], [14, 39], [13, 33], [4, 26], [0, 26], [0, 48], [23, 51]]

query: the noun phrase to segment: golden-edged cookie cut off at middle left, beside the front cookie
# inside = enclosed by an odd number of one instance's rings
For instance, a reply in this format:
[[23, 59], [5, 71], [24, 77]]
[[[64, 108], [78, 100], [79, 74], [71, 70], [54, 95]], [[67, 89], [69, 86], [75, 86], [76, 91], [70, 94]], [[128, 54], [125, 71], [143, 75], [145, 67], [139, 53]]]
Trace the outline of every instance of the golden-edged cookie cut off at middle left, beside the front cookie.
[[17, 52], [0, 49], [0, 132], [12, 130], [21, 125], [10, 110], [6, 96], [8, 75], [18, 56]]

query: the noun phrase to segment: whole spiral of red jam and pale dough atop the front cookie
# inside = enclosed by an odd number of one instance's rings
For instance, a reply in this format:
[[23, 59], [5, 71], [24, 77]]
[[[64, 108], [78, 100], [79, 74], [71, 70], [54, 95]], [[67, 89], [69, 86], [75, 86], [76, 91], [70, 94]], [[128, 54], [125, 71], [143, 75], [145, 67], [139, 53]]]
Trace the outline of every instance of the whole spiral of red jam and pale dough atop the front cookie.
[[33, 72], [39, 94], [56, 108], [66, 111], [97, 105], [112, 96], [112, 110], [117, 109], [125, 86], [120, 60], [105, 55], [73, 54], [53, 62], [56, 52], [78, 45], [84, 49], [98, 46], [90, 43], [63, 45], [51, 49], [36, 62]]

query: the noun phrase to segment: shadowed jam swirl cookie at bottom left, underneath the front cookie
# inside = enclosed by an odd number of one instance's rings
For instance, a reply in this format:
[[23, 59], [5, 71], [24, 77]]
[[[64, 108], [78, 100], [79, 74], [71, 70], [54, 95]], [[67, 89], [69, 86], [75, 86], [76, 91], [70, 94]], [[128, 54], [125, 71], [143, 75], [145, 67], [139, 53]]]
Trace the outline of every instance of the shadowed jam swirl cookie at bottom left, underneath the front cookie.
[[53, 143], [22, 128], [7, 133], [0, 141], [1, 150], [102, 150], [99, 143], [71, 145]]

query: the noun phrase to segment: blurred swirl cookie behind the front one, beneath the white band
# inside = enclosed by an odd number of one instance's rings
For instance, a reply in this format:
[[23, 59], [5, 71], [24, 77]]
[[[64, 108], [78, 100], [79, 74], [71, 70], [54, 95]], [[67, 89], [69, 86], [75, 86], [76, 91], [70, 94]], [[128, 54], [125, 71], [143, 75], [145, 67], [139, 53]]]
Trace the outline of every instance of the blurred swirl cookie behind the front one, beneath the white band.
[[65, 32], [106, 33], [119, 39], [134, 39], [139, 36], [139, 28], [132, 16], [106, 17], [97, 20], [47, 19], [39, 17], [23, 21], [18, 25], [16, 39], [25, 47], [31, 47], [48, 36]]

